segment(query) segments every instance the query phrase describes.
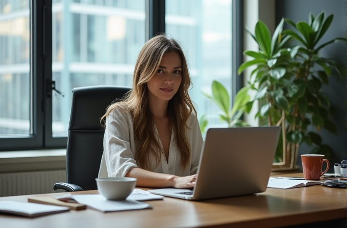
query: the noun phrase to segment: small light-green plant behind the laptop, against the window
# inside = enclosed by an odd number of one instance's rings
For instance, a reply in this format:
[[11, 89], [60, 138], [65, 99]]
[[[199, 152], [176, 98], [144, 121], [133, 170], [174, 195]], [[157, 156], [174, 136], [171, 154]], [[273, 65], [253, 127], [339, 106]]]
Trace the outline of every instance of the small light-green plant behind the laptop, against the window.
[[[218, 81], [212, 82], [212, 95], [203, 94], [211, 99], [221, 110], [219, 114], [220, 120], [228, 124], [228, 127], [247, 126], [248, 124], [241, 120], [241, 116], [246, 111], [246, 104], [250, 101], [250, 96], [247, 94], [249, 87], [244, 87], [236, 94], [234, 99], [234, 105], [230, 105], [230, 95], [227, 89]], [[200, 129], [205, 132], [205, 128], [208, 124], [206, 116], [203, 115], [200, 118]]]

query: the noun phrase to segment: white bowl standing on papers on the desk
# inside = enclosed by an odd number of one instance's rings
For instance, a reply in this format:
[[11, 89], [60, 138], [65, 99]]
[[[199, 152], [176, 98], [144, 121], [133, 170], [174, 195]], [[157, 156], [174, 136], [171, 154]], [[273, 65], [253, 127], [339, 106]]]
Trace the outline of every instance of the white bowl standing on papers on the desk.
[[136, 186], [136, 178], [130, 177], [103, 177], [95, 178], [99, 192], [112, 201], [123, 201], [130, 195]]

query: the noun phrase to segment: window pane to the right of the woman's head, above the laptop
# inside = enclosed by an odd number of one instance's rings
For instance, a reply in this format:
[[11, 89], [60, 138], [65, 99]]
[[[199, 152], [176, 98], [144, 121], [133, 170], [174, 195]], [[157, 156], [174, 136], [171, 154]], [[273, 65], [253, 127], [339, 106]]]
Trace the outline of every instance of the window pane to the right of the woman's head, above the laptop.
[[219, 108], [202, 92], [211, 94], [212, 81], [217, 80], [231, 94], [232, 1], [166, 0], [165, 7], [166, 33], [185, 48], [198, 116], [206, 115], [208, 127], [226, 126], [219, 120]]

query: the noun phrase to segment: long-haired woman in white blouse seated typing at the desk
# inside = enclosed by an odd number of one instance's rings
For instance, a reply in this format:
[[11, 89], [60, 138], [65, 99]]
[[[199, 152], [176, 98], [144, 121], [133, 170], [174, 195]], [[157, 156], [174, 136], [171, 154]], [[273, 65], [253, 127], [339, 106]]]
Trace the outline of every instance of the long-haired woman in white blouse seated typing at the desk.
[[110, 105], [99, 177], [133, 177], [141, 187], [194, 187], [203, 138], [182, 48], [157, 35], [141, 49], [133, 89]]

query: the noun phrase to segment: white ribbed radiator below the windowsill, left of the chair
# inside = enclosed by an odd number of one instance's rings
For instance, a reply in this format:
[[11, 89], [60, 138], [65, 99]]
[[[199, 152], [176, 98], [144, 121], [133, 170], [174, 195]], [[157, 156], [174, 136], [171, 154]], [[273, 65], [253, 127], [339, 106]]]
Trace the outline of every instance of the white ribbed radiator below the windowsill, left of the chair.
[[57, 182], [66, 182], [65, 170], [0, 174], [0, 196], [53, 193]]

